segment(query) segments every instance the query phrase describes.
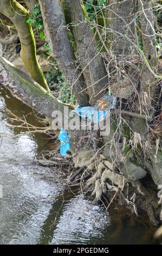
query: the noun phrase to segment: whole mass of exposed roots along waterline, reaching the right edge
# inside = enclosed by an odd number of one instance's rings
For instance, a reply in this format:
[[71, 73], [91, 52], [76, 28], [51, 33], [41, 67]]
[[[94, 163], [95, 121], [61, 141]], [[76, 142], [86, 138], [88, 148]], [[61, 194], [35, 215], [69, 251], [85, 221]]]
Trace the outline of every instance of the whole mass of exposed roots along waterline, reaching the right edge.
[[[66, 164], [65, 160], [57, 158], [56, 161], [47, 161], [51, 165], [58, 165], [59, 162], [60, 165], [61, 163]], [[90, 161], [87, 166], [77, 169], [73, 164], [72, 168], [73, 171], [72, 173], [70, 171], [68, 182], [69, 188], [80, 186], [80, 192], [90, 196], [93, 199], [93, 204], [104, 203], [106, 200], [108, 203], [106, 209], [108, 209], [112, 203], [119, 200], [121, 205], [126, 205], [136, 216], [139, 216], [140, 210], [145, 210], [153, 225], [159, 224], [156, 215], [162, 221], [162, 197], [159, 202], [158, 200], [156, 202], [156, 191], [150, 191], [152, 184], [149, 184], [149, 176], [142, 183], [140, 180], [127, 180], [124, 175], [118, 173], [113, 163], [102, 155], [99, 157], [99, 163]], [[79, 192], [78, 189], [77, 192]], [[131, 194], [129, 198], [128, 192]]]

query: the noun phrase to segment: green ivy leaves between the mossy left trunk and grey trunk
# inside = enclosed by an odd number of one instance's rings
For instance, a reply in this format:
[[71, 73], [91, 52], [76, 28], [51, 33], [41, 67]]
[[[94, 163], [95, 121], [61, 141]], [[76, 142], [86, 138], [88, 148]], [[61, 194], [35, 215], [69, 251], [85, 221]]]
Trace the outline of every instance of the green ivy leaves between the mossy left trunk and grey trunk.
[[[46, 39], [46, 36], [44, 35], [43, 20], [39, 3], [35, 4], [34, 8], [31, 10], [31, 15], [28, 17], [27, 23], [36, 28], [35, 34], [37, 33], [41, 40]], [[50, 52], [50, 47], [47, 42], [44, 44], [44, 47], [48, 52]]]

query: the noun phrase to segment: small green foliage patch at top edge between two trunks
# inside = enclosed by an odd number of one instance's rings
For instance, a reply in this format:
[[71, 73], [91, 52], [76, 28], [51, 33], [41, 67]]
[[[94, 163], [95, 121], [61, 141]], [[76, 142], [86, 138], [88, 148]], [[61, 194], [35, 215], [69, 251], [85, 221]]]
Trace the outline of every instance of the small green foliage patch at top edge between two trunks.
[[85, 9], [88, 13], [89, 19], [94, 20], [95, 13], [100, 13], [100, 8], [104, 7], [106, 0], [86, 0], [84, 2]]

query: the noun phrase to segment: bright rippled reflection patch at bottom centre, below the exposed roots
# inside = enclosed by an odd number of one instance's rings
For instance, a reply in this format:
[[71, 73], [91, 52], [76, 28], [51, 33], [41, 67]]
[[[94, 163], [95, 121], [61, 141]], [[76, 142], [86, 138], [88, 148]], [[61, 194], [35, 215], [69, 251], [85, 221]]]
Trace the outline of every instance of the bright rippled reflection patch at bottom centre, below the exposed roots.
[[98, 205], [77, 196], [69, 200], [56, 225], [51, 243], [87, 244], [102, 240], [105, 228], [110, 224], [108, 213]]

